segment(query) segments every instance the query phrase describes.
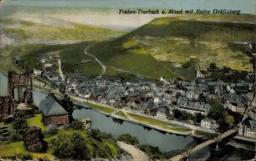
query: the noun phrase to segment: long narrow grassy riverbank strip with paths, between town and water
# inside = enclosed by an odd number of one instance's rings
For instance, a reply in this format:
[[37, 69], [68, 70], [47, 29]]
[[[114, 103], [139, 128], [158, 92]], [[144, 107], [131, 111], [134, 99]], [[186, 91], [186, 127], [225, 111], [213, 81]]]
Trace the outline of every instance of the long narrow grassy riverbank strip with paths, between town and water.
[[[40, 92], [45, 93], [45, 91], [46, 91], [44, 88], [40, 88], [38, 86], [35, 86], [35, 88], [36, 88], [36, 90], [38, 90]], [[61, 96], [61, 94], [59, 92], [56, 92], [56, 90], [55, 91], [47, 90], [46, 92], [53, 92], [57, 96]], [[148, 116], [140, 116], [140, 114], [137, 114], [137, 113], [134, 113], [131, 111], [128, 112], [128, 111], [124, 111], [124, 110], [117, 110], [111, 106], [103, 105], [101, 103], [87, 100], [84, 98], [80, 98], [77, 96], [70, 95], [70, 98], [72, 99], [72, 101], [74, 103], [81, 105], [81, 106], [87, 106], [87, 108], [95, 110], [96, 112], [101, 113], [107, 117], [120, 119], [120, 120], [131, 122], [134, 124], [142, 125], [142, 126], [148, 127], [148, 128], [153, 128], [160, 132], [169, 132], [169, 133], [174, 133], [174, 134], [183, 135], [183, 136], [190, 135], [193, 137], [202, 137], [207, 134], [206, 133], [207, 131], [200, 131], [198, 129], [181, 126], [181, 124], [183, 124], [183, 123], [173, 124], [173, 123], [169, 123], [169, 122], [166, 122], [165, 120], [161, 120], [158, 118], [151, 118]], [[122, 112], [124, 115], [123, 114], [119, 115], [118, 114], [119, 112]], [[174, 122], [174, 123], [176, 123], [176, 122]]]

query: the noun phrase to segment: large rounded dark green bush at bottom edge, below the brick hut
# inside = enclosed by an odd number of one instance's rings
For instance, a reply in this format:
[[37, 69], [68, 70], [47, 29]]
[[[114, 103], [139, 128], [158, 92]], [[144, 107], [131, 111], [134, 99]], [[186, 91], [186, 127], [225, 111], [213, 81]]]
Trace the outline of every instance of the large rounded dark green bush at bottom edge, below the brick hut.
[[52, 141], [53, 153], [61, 159], [90, 160], [86, 140], [78, 133], [61, 134]]

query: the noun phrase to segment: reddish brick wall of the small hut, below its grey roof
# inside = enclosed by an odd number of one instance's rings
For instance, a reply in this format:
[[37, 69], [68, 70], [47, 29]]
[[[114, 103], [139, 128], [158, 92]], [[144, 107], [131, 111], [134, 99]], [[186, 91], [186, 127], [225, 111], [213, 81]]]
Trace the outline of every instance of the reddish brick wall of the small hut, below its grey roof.
[[68, 124], [68, 115], [54, 115], [45, 117], [45, 125], [60, 125]]

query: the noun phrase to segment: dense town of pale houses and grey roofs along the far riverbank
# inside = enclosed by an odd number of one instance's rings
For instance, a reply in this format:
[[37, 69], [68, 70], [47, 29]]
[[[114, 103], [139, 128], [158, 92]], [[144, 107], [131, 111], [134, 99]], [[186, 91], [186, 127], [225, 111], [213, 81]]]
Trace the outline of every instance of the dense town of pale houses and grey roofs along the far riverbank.
[[[250, 47], [253, 49], [252, 45]], [[59, 56], [51, 53], [44, 56], [41, 59], [44, 69], [34, 69], [33, 74], [50, 81], [60, 93], [143, 116], [225, 131], [240, 123], [247, 109], [251, 106], [255, 109], [256, 106], [253, 101], [253, 71], [236, 71], [211, 63], [208, 71], [202, 71], [198, 66], [196, 79], [188, 82], [180, 78], [167, 80], [165, 77], [153, 80], [127, 73], [90, 78], [82, 76], [77, 70], [63, 81], [63, 75], [58, 75], [62, 73], [59, 72]], [[17, 61], [19, 58], [14, 58], [14, 62]], [[221, 112], [225, 113], [223, 117], [218, 116]], [[243, 120], [239, 135], [254, 139], [255, 124], [254, 115]]]

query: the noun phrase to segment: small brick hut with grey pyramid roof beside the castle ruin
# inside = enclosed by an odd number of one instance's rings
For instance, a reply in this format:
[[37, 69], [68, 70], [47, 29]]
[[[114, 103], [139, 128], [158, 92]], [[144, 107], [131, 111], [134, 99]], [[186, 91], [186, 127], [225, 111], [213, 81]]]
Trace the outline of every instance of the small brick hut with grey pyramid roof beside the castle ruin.
[[43, 121], [46, 126], [67, 125], [69, 123], [69, 113], [61, 106], [60, 100], [52, 93], [40, 102], [39, 108], [42, 111]]

